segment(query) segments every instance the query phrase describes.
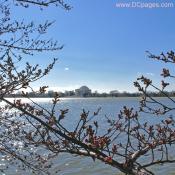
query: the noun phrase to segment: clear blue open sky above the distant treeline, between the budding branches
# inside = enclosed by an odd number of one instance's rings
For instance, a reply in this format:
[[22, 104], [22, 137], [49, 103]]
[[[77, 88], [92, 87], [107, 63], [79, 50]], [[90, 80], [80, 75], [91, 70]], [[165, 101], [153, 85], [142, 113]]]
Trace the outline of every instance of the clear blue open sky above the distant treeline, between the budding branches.
[[116, 8], [117, 0], [67, 2], [73, 6], [69, 12], [56, 7], [14, 11], [16, 18], [26, 21], [56, 20], [47, 37], [65, 45], [57, 53], [28, 58], [41, 65], [59, 58], [50, 75], [34, 86], [48, 84], [63, 91], [87, 85], [99, 92], [133, 92], [140, 74], [160, 80], [164, 65], [146, 58], [145, 51], [174, 50], [175, 8]]

